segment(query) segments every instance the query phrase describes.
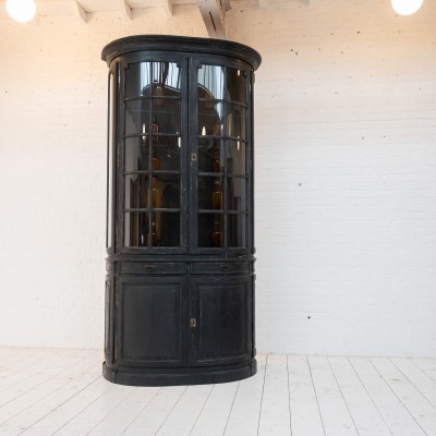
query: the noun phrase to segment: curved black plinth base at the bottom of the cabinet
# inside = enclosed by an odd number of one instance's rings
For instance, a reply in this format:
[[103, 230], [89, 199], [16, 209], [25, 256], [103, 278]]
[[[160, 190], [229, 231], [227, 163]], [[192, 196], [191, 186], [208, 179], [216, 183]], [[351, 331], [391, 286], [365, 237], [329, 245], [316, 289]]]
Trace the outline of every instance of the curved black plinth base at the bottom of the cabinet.
[[141, 368], [137, 372], [114, 370], [106, 362], [102, 364], [102, 376], [118, 385], [129, 386], [181, 386], [208, 385], [216, 383], [237, 382], [249, 378], [257, 372], [256, 360], [239, 367], [213, 366], [190, 370], [179, 368]]

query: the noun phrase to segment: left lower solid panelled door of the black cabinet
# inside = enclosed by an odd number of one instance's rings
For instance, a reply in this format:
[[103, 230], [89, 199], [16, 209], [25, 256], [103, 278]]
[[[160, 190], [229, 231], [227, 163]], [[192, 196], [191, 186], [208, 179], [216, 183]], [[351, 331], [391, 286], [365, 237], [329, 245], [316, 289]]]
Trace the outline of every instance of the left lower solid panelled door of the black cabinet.
[[186, 278], [123, 277], [118, 282], [118, 361], [126, 366], [185, 366]]

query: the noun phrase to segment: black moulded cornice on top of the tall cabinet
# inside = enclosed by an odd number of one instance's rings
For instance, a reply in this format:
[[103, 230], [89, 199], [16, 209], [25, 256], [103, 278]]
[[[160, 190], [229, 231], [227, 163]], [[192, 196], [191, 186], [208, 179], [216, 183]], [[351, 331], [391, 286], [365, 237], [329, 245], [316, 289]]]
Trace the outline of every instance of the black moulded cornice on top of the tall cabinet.
[[240, 43], [170, 35], [136, 35], [116, 39], [102, 49], [101, 59], [109, 65], [114, 58], [135, 51], [221, 55], [243, 60], [252, 65], [253, 70], [256, 70], [262, 61], [256, 50]]

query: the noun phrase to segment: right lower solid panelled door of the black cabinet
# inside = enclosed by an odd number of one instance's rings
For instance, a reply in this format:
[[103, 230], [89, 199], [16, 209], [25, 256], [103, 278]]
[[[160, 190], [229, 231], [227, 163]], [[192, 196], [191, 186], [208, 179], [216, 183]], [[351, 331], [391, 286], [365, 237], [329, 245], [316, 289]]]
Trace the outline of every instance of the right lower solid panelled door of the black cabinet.
[[191, 364], [225, 365], [252, 359], [252, 276], [191, 280]]

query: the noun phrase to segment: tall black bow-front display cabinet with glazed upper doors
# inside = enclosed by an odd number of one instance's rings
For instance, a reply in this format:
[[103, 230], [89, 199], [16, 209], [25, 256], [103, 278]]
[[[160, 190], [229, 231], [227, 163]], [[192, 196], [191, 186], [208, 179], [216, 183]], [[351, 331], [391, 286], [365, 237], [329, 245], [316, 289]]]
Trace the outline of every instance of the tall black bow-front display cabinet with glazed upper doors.
[[132, 36], [109, 66], [104, 376], [128, 385], [256, 372], [253, 83], [237, 43]]

